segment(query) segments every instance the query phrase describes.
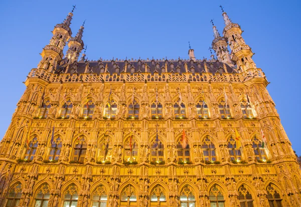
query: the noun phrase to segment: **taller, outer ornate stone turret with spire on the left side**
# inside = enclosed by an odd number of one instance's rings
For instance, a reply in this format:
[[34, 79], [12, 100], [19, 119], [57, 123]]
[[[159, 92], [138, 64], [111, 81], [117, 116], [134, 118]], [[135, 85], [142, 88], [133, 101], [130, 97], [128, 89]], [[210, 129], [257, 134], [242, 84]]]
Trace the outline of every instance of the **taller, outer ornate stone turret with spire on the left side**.
[[73, 16], [72, 12], [74, 8], [75, 6], [73, 6], [72, 11], [68, 13], [63, 23], [55, 25], [52, 31], [53, 36], [50, 39], [50, 43], [43, 48], [43, 51], [41, 53], [42, 60], [40, 61], [38, 68], [43, 68], [50, 72], [53, 72], [57, 64], [62, 60], [64, 56], [64, 46], [66, 45], [66, 41], [68, 41], [72, 35], [69, 26], [71, 24]]

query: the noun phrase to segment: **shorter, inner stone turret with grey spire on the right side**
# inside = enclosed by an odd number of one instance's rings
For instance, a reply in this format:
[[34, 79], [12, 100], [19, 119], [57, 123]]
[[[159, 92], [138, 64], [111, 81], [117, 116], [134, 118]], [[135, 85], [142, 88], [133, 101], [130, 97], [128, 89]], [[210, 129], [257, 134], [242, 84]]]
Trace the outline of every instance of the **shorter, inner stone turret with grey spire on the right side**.
[[228, 50], [228, 43], [225, 37], [220, 36], [216, 26], [211, 19], [213, 25], [214, 39], [212, 41], [212, 48], [214, 49], [217, 59], [223, 62], [231, 63], [231, 57]]

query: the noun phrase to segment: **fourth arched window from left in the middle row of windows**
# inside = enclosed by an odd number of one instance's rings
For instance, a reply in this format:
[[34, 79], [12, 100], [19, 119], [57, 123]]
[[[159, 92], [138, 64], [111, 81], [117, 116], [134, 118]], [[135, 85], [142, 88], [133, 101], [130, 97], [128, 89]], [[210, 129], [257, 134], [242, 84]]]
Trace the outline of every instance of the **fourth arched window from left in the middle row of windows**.
[[98, 161], [101, 162], [111, 161], [112, 148], [113, 148], [113, 144], [111, 138], [108, 135], [104, 134], [104, 137], [99, 142]]

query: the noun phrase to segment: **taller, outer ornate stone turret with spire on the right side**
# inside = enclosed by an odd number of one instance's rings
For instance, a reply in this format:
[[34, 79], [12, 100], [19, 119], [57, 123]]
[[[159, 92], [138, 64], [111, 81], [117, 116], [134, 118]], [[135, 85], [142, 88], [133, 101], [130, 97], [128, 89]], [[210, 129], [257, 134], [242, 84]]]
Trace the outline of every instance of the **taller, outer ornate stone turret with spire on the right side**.
[[245, 71], [249, 68], [256, 68], [254, 61], [252, 60], [253, 52], [249, 45], [247, 45], [241, 36], [242, 30], [237, 23], [232, 23], [229, 16], [224, 12], [223, 18], [225, 21], [225, 28], [223, 31], [224, 37], [228, 40], [231, 48], [231, 57], [236, 62], [238, 68], [241, 71]]

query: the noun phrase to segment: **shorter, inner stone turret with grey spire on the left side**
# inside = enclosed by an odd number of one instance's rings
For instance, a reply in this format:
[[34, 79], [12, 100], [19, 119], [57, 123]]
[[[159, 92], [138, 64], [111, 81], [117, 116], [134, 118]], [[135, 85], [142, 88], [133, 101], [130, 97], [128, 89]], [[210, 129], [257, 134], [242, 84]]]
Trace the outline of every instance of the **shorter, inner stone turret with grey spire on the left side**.
[[81, 39], [83, 36], [83, 32], [84, 32], [84, 24], [85, 24], [85, 21], [84, 21], [83, 25], [80, 26], [75, 37], [70, 38], [70, 41], [68, 43], [69, 49], [66, 52], [68, 64], [72, 64], [73, 62], [77, 61], [79, 53], [84, 48], [84, 42]]

